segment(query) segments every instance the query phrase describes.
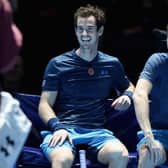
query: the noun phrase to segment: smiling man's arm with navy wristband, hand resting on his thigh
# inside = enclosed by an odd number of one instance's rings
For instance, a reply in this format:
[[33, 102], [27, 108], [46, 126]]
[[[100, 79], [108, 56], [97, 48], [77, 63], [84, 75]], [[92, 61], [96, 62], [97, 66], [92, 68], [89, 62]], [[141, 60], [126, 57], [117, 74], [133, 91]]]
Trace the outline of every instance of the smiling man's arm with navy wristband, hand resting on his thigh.
[[56, 91], [43, 91], [39, 102], [39, 115], [44, 123], [53, 131], [53, 137], [50, 141], [51, 146], [55, 146], [57, 143], [62, 143], [68, 139], [72, 144], [72, 140], [68, 135], [68, 132], [64, 126], [59, 122], [55, 112], [52, 109], [57, 97]]

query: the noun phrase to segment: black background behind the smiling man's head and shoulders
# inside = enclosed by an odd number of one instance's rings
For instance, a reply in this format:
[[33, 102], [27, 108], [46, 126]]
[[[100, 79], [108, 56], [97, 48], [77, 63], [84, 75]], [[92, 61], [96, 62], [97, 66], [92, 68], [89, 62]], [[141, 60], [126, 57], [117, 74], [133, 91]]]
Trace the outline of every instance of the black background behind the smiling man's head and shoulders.
[[165, 51], [154, 28], [168, 23], [168, 0], [19, 0], [14, 21], [23, 33], [20, 55], [24, 76], [19, 92], [40, 94], [44, 69], [51, 57], [77, 47], [73, 13], [86, 3], [106, 10], [107, 22], [100, 49], [120, 59], [135, 84], [146, 59]]

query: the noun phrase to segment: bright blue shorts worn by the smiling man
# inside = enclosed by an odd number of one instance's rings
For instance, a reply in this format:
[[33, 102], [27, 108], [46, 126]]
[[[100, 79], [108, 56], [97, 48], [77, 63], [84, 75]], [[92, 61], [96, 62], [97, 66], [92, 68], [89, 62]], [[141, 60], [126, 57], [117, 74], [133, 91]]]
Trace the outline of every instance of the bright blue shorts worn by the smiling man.
[[[71, 128], [67, 129], [67, 131], [72, 138], [73, 145], [66, 140], [61, 147], [70, 148], [74, 154], [76, 153], [77, 145], [85, 145], [87, 147], [87, 151], [91, 150], [90, 152], [94, 152], [96, 154], [107, 141], [119, 141], [113, 135], [113, 132], [107, 129]], [[50, 139], [52, 138], [51, 131], [41, 131], [41, 135], [44, 139], [40, 147], [45, 156], [49, 159], [50, 152], [60, 146], [49, 146]]]

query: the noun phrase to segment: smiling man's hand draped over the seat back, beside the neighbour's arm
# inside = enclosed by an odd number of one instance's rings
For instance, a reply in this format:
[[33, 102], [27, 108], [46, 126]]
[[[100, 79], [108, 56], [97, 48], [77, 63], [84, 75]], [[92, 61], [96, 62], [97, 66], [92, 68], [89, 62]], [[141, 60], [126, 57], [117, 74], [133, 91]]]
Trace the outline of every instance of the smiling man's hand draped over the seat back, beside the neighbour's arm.
[[131, 99], [126, 95], [118, 97], [111, 104], [111, 106], [115, 110], [119, 110], [119, 111], [127, 110], [130, 107], [130, 105], [131, 105]]

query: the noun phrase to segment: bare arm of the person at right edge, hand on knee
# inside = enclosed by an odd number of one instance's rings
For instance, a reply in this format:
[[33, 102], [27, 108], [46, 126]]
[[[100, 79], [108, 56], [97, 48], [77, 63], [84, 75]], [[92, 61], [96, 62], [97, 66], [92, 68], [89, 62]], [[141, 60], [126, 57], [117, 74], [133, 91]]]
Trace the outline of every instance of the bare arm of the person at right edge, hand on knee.
[[154, 139], [149, 119], [149, 93], [152, 89], [152, 83], [145, 79], [139, 79], [133, 94], [136, 117], [140, 128], [146, 138], [146, 145], [149, 148], [153, 163], [158, 163], [160, 158], [160, 149], [158, 142]]

